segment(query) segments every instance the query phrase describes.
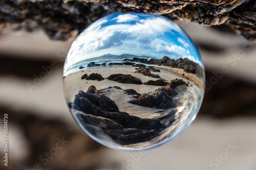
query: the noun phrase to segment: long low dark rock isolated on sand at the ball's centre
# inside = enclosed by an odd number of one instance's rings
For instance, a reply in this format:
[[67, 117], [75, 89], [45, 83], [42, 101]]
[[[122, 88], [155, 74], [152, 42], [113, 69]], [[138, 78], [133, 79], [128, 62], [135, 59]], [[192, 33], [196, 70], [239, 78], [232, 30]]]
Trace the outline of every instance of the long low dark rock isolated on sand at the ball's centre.
[[132, 75], [114, 74], [110, 75], [107, 79], [116, 81], [118, 83], [142, 84], [139, 78], [136, 78]]

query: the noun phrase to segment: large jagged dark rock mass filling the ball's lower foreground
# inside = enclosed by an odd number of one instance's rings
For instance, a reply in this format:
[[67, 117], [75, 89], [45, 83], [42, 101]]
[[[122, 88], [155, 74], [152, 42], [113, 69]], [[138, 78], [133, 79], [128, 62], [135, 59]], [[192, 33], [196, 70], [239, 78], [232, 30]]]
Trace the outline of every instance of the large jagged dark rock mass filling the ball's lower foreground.
[[[91, 86], [87, 92], [80, 90], [74, 102], [70, 103], [81, 125], [95, 136], [103, 132], [120, 144], [146, 142], [157, 137], [166, 127], [166, 122], [170, 124], [175, 120], [172, 109], [162, 111], [156, 118], [140, 118], [121, 112], [115, 102], [102, 92], [103, 89], [96, 90]], [[126, 92], [131, 92], [131, 95], [137, 93], [133, 89]]]

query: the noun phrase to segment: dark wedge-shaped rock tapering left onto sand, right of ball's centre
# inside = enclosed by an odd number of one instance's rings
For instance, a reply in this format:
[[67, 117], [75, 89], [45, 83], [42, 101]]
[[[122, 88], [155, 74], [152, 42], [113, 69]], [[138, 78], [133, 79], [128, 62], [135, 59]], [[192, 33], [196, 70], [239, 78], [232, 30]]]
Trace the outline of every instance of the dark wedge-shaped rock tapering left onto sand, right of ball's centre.
[[144, 107], [156, 107], [158, 109], [169, 109], [176, 107], [173, 98], [163, 91], [155, 91], [150, 95], [142, 94], [138, 99], [129, 101], [129, 103]]

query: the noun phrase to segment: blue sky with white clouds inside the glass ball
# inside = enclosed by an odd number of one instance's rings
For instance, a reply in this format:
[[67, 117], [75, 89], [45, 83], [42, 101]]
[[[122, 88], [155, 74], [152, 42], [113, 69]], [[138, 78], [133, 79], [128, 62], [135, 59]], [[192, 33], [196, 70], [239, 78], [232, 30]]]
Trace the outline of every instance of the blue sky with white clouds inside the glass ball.
[[158, 59], [186, 57], [202, 62], [195, 44], [173, 21], [160, 15], [138, 13], [114, 13], [92, 23], [72, 44], [67, 67], [104, 54]]

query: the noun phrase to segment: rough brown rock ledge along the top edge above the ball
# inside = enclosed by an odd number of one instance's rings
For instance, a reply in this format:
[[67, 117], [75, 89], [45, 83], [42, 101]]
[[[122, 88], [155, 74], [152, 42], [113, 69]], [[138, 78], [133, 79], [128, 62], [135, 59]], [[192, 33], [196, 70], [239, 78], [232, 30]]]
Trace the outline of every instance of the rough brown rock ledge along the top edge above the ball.
[[176, 21], [183, 19], [206, 26], [224, 23], [247, 40], [256, 40], [254, 0], [1, 1], [0, 32], [42, 29], [51, 39], [67, 40], [114, 11], [165, 14]]

